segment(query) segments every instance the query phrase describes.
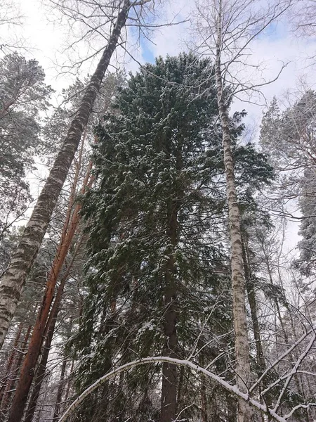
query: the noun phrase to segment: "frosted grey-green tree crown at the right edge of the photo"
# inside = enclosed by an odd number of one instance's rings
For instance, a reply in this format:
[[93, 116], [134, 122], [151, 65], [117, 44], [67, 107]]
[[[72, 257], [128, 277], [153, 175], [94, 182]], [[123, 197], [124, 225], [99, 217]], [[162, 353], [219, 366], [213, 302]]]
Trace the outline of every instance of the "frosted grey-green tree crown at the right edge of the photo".
[[283, 113], [274, 99], [261, 126], [261, 145], [279, 170], [279, 190], [287, 200], [298, 200], [301, 207], [303, 239], [298, 243], [301, 257], [296, 265], [305, 275], [315, 270], [315, 130], [316, 94], [311, 90]]

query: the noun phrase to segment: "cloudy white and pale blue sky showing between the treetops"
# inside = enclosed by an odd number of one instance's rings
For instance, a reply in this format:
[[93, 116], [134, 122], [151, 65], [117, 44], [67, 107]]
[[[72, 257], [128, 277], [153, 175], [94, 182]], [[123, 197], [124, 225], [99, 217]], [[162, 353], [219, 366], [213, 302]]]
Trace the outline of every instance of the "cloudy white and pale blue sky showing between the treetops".
[[[70, 41], [70, 27], [67, 22], [62, 22], [54, 11], [48, 11], [45, 4], [48, 0], [15, 0], [18, 6], [20, 1], [20, 11], [23, 15], [23, 25], [16, 28], [15, 32], [18, 36], [22, 36], [26, 41], [27, 48], [21, 53], [29, 58], [37, 58], [46, 72], [46, 80], [48, 84], [56, 90], [55, 101], [58, 103], [60, 91], [67, 87], [76, 77], [69, 72], [61, 72], [62, 63], [70, 63], [75, 60], [77, 54], [84, 56], [89, 53], [89, 49], [98, 47], [98, 39], [93, 39], [90, 46], [80, 44], [77, 51], [65, 53], [65, 46]], [[164, 1], [161, 8], [161, 16], [159, 23], [162, 22], [180, 22], [190, 19], [192, 11], [195, 8], [193, 0], [173, 0]], [[74, 30], [78, 28], [74, 27]], [[123, 55], [119, 53], [119, 65], [126, 70], [135, 72], [138, 70], [139, 63], [153, 62], [157, 56], [177, 55], [180, 51], [187, 49], [187, 41], [190, 39], [190, 22], [181, 23], [179, 25], [169, 25], [159, 27], [149, 34], [149, 38], [141, 37], [138, 39], [137, 31], [129, 30], [129, 52]], [[2, 32], [2, 37], [8, 34]], [[1, 27], [0, 27], [1, 36]], [[298, 96], [302, 87], [315, 88], [316, 67], [312, 66], [312, 62], [308, 57], [312, 56], [316, 50], [315, 39], [303, 39], [295, 37], [291, 33], [287, 16], [281, 23], [274, 24], [265, 34], [258, 37], [251, 45], [251, 56], [249, 63], [261, 63], [263, 73], [258, 70], [249, 70], [244, 77], [247, 79], [255, 79], [258, 81], [274, 79], [278, 74], [282, 65], [286, 65], [278, 79], [263, 87], [262, 91], [265, 96], [258, 101], [258, 104], [243, 103], [235, 101], [233, 108], [235, 110], [246, 109], [248, 115], [246, 124], [249, 127], [255, 127], [253, 131], [258, 136], [258, 128], [260, 127], [261, 116], [265, 110], [264, 104], [268, 104], [273, 96], [279, 98], [281, 106], [286, 106], [289, 96]], [[115, 63], [114, 63], [115, 64]], [[84, 63], [79, 71], [79, 76], [83, 77], [87, 72], [93, 72], [96, 60], [89, 60]], [[297, 241], [297, 225], [289, 224], [289, 237], [295, 238]]]

